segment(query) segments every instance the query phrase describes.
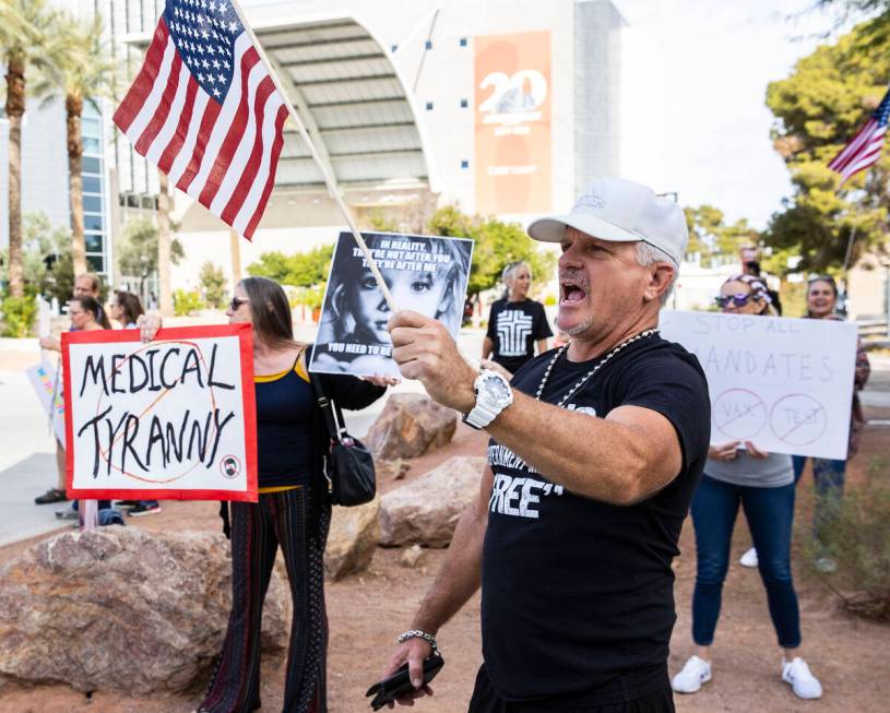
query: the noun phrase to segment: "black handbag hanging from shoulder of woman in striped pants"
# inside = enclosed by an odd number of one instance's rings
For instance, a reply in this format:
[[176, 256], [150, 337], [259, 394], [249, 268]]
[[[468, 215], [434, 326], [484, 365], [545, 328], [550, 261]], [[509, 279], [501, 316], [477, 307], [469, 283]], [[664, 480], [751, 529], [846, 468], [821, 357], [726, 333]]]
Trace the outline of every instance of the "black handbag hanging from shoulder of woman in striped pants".
[[310, 373], [309, 381], [331, 438], [330, 450], [324, 456], [324, 477], [331, 502], [344, 508], [370, 502], [377, 491], [371, 452], [346, 432], [343, 412], [324, 394], [318, 376]]

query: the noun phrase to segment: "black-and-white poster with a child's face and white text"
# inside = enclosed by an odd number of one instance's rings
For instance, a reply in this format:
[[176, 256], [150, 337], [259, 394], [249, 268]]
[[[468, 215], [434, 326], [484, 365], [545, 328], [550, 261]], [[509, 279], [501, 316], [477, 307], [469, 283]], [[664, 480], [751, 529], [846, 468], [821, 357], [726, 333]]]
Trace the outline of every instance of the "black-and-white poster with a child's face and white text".
[[[456, 338], [473, 241], [364, 234], [399, 309], [435, 317]], [[310, 371], [397, 377], [387, 322], [392, 312], [352, 235], [341, 233], [321, 310]]]

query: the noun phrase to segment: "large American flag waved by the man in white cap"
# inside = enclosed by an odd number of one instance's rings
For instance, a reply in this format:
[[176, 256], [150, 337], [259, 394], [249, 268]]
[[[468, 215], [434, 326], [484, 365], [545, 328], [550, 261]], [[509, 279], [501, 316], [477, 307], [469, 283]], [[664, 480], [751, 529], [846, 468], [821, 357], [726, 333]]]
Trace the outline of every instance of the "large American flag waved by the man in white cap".
[[250, 238], [286, 118], [230, 0], [167, 0], [114, 121], [173, 185]]

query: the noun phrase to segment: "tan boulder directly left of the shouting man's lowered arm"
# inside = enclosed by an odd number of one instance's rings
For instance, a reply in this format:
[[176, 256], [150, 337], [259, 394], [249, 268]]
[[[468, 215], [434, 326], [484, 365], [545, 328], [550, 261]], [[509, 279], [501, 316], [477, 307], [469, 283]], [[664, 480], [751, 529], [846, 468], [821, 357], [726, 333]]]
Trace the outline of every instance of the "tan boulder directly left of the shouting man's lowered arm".
[[461, 513], [479, 491], [484, 457], [455, 456], [390, 490], [380, 503], [380, 544], [448, 547]]

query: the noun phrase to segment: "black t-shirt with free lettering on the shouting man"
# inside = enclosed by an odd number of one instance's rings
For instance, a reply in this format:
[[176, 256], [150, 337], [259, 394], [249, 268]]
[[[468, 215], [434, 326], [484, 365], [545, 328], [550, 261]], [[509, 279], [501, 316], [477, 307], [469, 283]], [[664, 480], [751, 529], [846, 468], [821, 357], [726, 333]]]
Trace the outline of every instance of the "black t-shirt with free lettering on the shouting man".
[[[553, 355], [530, 361], [513, 388], [533, 395]], [[542, 399], [558, 403], [596, 361], [572, 364], [562, 355]], [[704, 372], [678, 344], [645, 337], [619, 352], [566, 407], [605, 417], [622, 405], [663, 414], [683, 450], [679, 475], [634, 506], [573, 495], [489, 442], [495, 480], [483, 555], [483, 653], [507, 700], [608, 704], [664, 685], [676, 619], [671, 561], [708, 456]]]

